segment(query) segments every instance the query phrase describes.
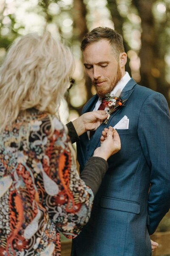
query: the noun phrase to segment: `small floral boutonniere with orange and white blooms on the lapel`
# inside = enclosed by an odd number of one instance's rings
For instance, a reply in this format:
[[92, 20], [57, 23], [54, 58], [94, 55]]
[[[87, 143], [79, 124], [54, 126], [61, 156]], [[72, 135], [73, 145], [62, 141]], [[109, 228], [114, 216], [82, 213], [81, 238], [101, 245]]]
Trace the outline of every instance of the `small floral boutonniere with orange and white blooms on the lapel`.
[[105, 105], [106, 105], [106, 108], [105, 110], [108, 112], [108, 117], [107, 119], [105, 119], [104, 123], [107, 124], [108, 122], [108, 119], [110, 118], [111, 114], [116, 111], [117, 109], [119, 108], [122, 108], [122, 106], [125, 105], [125, 102], [127, 101], [127, 99], [125, 100], [122, 100], [121, 98], [119, 97], [116, 97], [114, 94], [110, 94], [110, 93], [107, 93], [105, 95]]

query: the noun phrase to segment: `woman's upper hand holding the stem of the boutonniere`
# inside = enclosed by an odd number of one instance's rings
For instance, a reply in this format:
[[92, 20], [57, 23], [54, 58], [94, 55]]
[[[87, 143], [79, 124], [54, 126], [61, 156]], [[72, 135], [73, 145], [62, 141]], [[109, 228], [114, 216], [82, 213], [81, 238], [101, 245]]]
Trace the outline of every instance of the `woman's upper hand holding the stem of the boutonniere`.
[[72, 123], [78, 136], [80, 136], [85, 131], [95, 131], [107, 117], [108, 114], [104, 110], [92, 111], [82, 114]]

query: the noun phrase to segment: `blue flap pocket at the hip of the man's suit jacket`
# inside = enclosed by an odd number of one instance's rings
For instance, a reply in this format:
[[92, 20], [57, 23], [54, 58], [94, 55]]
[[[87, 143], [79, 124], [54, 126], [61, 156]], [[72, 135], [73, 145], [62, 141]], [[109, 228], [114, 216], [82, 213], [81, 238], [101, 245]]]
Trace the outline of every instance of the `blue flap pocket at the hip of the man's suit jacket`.
[[123, 199], [102, 196], [100, 199], [100, 206], [102, 208], [113, 209], [122, 212], [131, 212], [135, 214], [140, 213], [139, 203]]

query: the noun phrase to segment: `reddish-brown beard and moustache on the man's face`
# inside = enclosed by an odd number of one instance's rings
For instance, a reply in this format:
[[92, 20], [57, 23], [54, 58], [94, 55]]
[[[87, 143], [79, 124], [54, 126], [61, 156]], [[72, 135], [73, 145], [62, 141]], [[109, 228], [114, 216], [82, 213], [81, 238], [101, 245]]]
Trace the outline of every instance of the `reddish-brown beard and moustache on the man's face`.
[[110, 84], [108, 87], [102, 87], [102, 86], [98, 87], [95, 83], [93, 84], [96, 89], [97, 95], [100, 98], [105, 98], [105, 94], [111, 93], [111, 91], [116, 86], [116, 84], [120, 81], [121, 78], [122, 78], [122, 73], [121, 73], [120, 67], [118, 65], [116, 77], [115, 77], [114, 81], [112, 82], [112, 84]]

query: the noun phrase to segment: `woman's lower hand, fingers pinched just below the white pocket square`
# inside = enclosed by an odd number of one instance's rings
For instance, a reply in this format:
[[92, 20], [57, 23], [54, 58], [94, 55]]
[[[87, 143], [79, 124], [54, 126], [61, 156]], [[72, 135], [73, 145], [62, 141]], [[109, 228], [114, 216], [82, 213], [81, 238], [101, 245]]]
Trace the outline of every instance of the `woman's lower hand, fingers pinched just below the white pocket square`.
[[106, 161], [121, 149], [119, 134], [113, 127], [105, 128], [100, 138], [101, 146], [94, 151], [94, 157], [102, 157]]

